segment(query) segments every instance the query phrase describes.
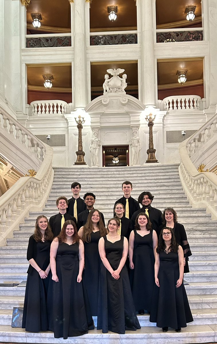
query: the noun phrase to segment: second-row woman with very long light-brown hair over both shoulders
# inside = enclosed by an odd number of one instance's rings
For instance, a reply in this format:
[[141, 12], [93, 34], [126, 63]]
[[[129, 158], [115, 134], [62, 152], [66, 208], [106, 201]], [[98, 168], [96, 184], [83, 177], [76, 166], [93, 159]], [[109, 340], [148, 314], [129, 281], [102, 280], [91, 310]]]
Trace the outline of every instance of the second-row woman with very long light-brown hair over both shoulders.
[[99, 271], [101, 266], [98, 244], [99, 239], [107, 233], [108, 231], [97, 209], [92, 209], [89, 212], [86, 225], [78, 231], [78, 235], [84, 243], [84, 282], [92, 315], [97, 315], [98, 308]]

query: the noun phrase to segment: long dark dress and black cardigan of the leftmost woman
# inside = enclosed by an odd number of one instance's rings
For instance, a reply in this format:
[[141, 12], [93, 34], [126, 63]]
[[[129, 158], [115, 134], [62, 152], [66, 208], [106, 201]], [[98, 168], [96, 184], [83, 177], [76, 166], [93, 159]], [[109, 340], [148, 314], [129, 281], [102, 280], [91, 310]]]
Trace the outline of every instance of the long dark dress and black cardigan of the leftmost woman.
[[[27, 259], [33, 258], [42, 270], [46, 270], [50, 263], [50, 247], [50, 241], [36, 242], [32, 235], [29, 239]], [[48, 330], [46, 299], [50, 276], [49, 272], [48, 277], [42, 279], [32, 266], [28, 269], [22, 321], [22, 328], [26, 331]]]

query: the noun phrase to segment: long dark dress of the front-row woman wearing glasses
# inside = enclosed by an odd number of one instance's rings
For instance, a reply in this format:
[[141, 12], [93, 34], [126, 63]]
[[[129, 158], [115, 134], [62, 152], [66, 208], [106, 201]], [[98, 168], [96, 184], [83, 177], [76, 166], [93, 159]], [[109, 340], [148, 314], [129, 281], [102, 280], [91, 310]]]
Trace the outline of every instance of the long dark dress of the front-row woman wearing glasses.
[[154, 286], [150, 322], [158, 327], [186, 327], [193, 321], [184, 284], [176, 288], [179, 279], [177, 252], [160, 252], [158, 273], [160, 287]]

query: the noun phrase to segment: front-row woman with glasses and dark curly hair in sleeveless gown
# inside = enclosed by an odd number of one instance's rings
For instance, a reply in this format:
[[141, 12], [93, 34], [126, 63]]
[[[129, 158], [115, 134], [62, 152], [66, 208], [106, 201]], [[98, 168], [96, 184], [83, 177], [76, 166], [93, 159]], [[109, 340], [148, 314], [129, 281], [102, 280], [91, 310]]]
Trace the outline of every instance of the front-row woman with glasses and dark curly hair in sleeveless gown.
[[193, 321], [183, 284], [183, 249], [176, 243], [172, 228], [161, 230], [154, 264], [155, 286], [152, 297], [150, 322], [156, 322], [163, 332], [172, 327], [181, 332]]

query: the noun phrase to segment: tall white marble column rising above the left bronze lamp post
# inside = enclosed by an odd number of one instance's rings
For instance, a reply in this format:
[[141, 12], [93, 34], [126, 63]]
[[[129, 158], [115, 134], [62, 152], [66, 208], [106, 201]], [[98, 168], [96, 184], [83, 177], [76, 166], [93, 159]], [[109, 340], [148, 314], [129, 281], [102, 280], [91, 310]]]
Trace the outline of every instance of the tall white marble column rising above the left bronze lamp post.
[[86, 92], [86, 29], [85, 29], [85, 0], [74, 0], [71, 3], [71, 13], [74, 14], [74, 110], [85, 108], [87, 105]]

